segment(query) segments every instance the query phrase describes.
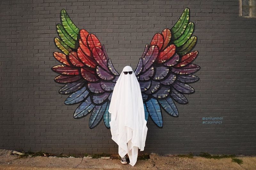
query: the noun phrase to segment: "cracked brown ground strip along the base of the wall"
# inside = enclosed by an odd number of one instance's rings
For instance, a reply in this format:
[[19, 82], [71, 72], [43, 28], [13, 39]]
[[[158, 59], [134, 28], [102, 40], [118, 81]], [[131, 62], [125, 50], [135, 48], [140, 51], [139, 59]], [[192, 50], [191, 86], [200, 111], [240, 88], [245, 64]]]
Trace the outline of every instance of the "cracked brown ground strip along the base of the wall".
[[110, 159], [31, 157], [18, 158], [12, 151], [0, 150], [1, 170], [82, 170], [82, 169], [132, 169], [132, 170], [256, 170], [256, 157], [236, 157], [243, 160], [243, 164], [231, 162], [231, 158], [207, 159], [202, 157], [177, 157], [150, 154], [150, 159], [138, 160], [134, 167], [123, 165], [118, 157]]

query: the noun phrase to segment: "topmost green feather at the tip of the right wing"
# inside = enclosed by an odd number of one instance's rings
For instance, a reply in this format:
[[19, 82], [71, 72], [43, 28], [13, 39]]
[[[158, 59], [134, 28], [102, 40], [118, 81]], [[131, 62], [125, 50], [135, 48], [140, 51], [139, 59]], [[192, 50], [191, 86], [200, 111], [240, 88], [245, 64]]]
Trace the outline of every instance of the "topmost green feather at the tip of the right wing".
[[189, 9], [185, 8], [180, 19], [177, 23], [172, 27], [172, 39], [177, 39], [181, 36], [181, 34], [185, 31], [189, 21]]

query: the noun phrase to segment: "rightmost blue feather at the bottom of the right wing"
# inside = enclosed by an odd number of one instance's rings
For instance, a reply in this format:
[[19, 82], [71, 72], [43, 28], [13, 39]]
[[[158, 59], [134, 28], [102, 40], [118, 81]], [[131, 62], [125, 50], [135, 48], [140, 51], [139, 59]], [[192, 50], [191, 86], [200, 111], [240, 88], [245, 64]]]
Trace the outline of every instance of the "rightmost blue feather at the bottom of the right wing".
[[165, 98], [163, 100], [158, 100], [158, 102], [160, 103], [160, 105], [163, 107], [163, 109], [169, 113], [170, 115], [174, 116], [174, 117], [178, 117], [179, 116], [179, 112], [178, 109], [175, 105], [175, 103], [173, 102], [171, 97]]

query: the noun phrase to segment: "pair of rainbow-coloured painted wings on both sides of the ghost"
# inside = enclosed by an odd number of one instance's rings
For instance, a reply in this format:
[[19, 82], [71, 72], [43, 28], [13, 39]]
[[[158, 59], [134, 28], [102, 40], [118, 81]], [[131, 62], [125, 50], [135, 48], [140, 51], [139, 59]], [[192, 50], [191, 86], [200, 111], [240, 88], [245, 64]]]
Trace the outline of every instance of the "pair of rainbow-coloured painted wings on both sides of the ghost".
[[[60, 74], [54, 80], [65, 84], [59, 93], [69, 95], [65, 101], [67, 105], [80, 103], [74, 118], [90, 114], [90, 128], [97, 126], [102, 118], [109, 128], [108, 107], [119, 74], [94, 34], [77, 28], [64, 9], [60, 18], [61, 24], [57, 24], [59, 38], [54, 39], [60, 51], [53, 56], [61, 65], [52, 67]], [[186, 8], [171, 29], [153, 36], [134, 72], [140, 83], [145, 119], [148, 121], [151, 117], [158, 127], [163, 127], [162, 110], [178, 117], [174, 101], [186, 104], [188, 100], [184, 94], [195, 91], [188, 85], [199, 80], [192, 75], [200, 68], [191, 63], [198, 54], [198, 51], [191, 51], [196, 44], [193, 31], [194, 23], [189, 22], [189, 9]]]

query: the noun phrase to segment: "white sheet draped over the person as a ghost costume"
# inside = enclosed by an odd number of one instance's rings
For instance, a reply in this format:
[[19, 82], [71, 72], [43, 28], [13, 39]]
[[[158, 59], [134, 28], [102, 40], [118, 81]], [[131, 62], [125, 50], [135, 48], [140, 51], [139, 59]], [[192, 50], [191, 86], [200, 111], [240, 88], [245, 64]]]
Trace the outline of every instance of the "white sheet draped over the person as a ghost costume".
[[111, 114], [112, 139], [118, 144], [118, 153], [122, 158], [127, 153], [130, 165], [134, 166], [138, 148], [140, 151], [144, 150], [148, 128], [140, 84], [132, 67], [124, 67], [118, 78], [108, 112]]

